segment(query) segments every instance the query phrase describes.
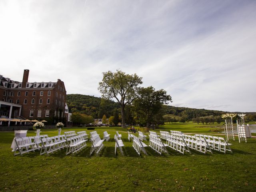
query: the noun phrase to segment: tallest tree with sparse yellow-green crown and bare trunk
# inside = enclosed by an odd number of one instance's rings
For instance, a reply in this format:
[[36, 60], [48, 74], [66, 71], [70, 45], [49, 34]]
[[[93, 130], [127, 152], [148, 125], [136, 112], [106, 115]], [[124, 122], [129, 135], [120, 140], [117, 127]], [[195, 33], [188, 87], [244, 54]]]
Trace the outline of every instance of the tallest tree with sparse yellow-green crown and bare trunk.
[[115, 98], [121, 108], [122, 127], [125, 128], [125, 106], [131, 104], [138, 97], [142, 78], [136, 74], [126, 74], [121, 70], [116, 72], [103, 72], [102, 81], [99, 82], [98, 90], [106, 99]]

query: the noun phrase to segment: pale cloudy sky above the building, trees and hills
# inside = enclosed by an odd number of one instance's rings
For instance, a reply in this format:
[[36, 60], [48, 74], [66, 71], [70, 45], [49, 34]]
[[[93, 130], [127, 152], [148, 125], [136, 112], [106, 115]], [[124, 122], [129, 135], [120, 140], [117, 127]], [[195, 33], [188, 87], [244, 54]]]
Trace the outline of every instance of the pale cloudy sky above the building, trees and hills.
[[101, 96], [102, 72], [142, 77], [172, 106], [256, 112], [255, 0], [1, 0], [0, 74]]

